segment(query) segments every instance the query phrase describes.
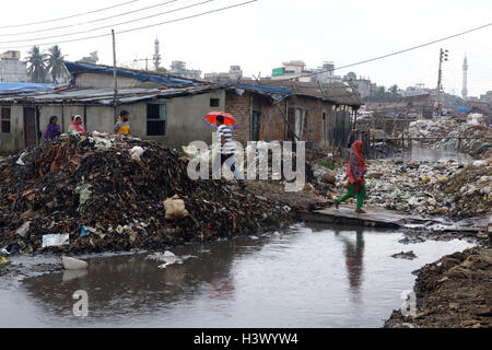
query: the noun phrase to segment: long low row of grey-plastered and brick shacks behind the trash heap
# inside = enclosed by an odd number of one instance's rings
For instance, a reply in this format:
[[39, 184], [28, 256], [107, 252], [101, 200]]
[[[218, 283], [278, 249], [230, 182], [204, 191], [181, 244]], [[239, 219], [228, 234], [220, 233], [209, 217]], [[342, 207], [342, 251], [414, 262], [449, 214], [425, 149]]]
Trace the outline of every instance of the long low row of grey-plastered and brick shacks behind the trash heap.
[[115, 113], [122, 109], [130, 113], [132, 136], [173, 148], [196, 140], [210, 144], [214, 130], [202, 118], [211, 110], [234, 115], [239, 124], [234, 139], [244, 144], [250, 140], [292, 140], [295, 132], [314, 147], [328, 148], [347, 143], [349, 109], [355, 110], [361, 104], [347, 85], [333, 90], [312, 83], [291, 88], [216, 84], [118, 69], [115, 108], [112, 67], [73, 62], [66, 66], [73, 74], [74, 86], [35, 94], [0, 94], [2, 126], [5, 124], [0, 130], [0, 150], [20, 150], [43, 142], [52, 115], [58, 116], [63, 132], [77, 114], [83, 117], [87, 131], [113, 132]]

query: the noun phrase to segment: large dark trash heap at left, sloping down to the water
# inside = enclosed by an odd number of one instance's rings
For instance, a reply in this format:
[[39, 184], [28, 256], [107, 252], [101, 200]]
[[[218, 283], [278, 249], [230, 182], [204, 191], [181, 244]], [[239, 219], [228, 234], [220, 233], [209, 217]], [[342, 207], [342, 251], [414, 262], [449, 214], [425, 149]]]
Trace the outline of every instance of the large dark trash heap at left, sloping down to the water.
[[23, 253], [160, 249], [290, 218], [225, 180], [191, 180], [181, 153], [133, 138], [63, 135], [0, 171], [0, 248]]

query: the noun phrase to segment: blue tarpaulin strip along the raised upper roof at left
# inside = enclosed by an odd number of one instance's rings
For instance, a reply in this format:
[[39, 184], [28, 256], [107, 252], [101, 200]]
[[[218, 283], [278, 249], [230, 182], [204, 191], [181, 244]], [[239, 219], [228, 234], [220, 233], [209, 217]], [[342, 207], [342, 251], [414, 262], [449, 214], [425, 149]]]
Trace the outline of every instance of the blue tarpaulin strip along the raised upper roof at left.
[[[68, 62], [65, 61], [65, 66], [72, 74], [80, 74], [80, 73], [103, 73], [103, 74], [114, 74], [113, 68], [107, 68], [104, 66], [94, 66], [89, 63], [75, 63], [75, 62]], [[177, 79], [177, 78], [171, 78], [171, 77], [162, 77], [162, 75], [154, 75], [154, 74], [144, 74], [139, 73], [136, 71], [130, 70], [124, 70], [124, 69], [116, 69], [116, 73], [119, 77], [128, 77], [133, 78], [142, 82], [154, 82], [159, 84], [164, 84], [167, 86], [177, 86], [177, 85], [185, 85], [185, 84], [195, 84], [190, 80], [184, 80], [184, 79]]]

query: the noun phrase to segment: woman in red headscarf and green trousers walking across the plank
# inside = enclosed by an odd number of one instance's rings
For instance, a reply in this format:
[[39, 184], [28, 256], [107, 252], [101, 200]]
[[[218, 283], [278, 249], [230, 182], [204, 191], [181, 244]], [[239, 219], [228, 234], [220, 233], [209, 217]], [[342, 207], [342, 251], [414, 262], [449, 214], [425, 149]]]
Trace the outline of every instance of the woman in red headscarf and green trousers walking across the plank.
[[358, 197], [358, 207], [355, 211], [360, 213], [365, 212], [362, 210], [362, 205], [365, 200], [365, 173], [367, 173], [367, 168], [365, 167], [365, 161], [362, 156], [362, 141], [355, 141], [350, 151], [349, 164], [347, 164], [347, 177], [349, 178], [349, 182], [347, 183], [348, 191], [335, 201], [335, 208], [338, 209], [339, 203], [349, 198]]

